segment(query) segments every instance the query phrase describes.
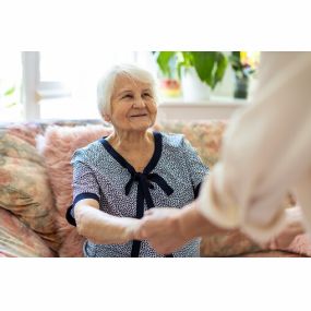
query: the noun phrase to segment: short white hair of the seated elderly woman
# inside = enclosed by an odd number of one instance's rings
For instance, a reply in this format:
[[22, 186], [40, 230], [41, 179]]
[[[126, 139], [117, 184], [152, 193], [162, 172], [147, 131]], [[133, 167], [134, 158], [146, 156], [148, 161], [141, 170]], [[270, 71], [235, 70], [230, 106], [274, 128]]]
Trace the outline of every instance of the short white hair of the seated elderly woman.
[[110, 113], [111, 96], [115, 88], [116, 79], [125, 75], [142, 83], [148, 83], [157, 103], [157, 85], [154, 76], [145, 69], [134, 64], [119, 64], [112, 67], [97, 84], [97, 105], [101, 116]]

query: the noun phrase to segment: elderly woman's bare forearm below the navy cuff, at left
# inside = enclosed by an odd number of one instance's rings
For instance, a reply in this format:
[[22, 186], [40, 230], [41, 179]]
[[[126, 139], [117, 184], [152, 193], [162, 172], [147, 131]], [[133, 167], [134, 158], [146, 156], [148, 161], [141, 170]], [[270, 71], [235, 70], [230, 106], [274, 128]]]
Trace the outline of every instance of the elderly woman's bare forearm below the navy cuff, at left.
[[108, 215], [88, 205], [74, 211], [77, 231], [95, 243], [125, 243], [135, 239], [139, 219]]

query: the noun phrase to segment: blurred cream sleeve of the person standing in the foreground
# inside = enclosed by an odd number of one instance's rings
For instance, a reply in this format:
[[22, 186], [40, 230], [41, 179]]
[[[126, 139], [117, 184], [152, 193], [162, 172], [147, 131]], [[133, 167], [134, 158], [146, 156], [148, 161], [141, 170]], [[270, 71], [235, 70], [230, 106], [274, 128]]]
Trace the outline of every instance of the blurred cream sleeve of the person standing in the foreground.
[[311, 172], [311, 52], [263, 52], [253, 101], [230, 120], [199, 208], [266, 241], [284, 227], [285, 194]]

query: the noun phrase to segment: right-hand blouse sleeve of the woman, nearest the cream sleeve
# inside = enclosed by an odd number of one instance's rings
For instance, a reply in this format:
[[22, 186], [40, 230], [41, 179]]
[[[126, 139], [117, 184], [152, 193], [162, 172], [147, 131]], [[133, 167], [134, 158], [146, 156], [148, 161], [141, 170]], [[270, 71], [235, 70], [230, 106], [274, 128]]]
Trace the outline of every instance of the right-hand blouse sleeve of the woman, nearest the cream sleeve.
[[198, 152], [184, 137], [182, 139], [182, 149], [192, 180], [194, 198], [196, 198], [199, 195], [201, 183], [204, 180], [204, 177], [208, 174], [208, 167], [202, 163]]

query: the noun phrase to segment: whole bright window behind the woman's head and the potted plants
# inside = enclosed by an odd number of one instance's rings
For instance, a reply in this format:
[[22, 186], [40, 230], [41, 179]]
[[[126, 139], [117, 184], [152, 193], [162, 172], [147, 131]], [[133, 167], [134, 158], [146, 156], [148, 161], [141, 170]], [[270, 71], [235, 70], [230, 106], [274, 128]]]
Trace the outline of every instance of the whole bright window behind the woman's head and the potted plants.
[[[241, 55], [247, 57], [248, 62], [258, 62], [258, 53]], [[97, 81], [107, 69], [117, 63], [136, 63], [155, 76], [158, 75], [160, 103], [184, 105], [187, 101], [186, 88], [180, 89], [180, 85], [179, 92], [172, 95], [176, 87], [166, 84], [166, 80], [159, 74], [155, 55], [149, 51], [0, 52], [0, 122], [98, 119]], [[251, 80], [250, 89], [254, 85], [253, 81], [255, 80]], [[224, 80], [213, 91], [208, 100], [214, 104], [235, 101], [234, 85], [234, 72], [228, 65]], [[193, 87], [187, 87], [187, 91], [190, 91], [191, 95], [187, 103], [206, 104], [206, 98], [193, 99], [195, 88], [193, 91]], [[162, 105], [162, 109], [165, 109], [164, 106]], [[193, 106], [191, 107], [193, 109]], [[179, 108], [176, 106], [175, 111], [176, 109]]]

